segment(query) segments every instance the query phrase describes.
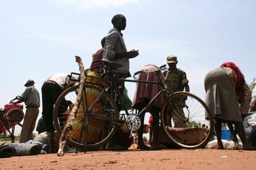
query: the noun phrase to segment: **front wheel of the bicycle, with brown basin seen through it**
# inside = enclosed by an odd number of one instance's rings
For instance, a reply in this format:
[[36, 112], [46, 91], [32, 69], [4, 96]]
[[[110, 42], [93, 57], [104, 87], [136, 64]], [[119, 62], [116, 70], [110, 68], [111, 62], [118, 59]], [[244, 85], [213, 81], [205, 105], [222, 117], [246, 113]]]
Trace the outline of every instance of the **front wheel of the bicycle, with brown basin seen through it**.
[[169, 96], [161, 107], [160, 116], [161, 126], [169, 139], [182, 148], [202, 148], [213, 133], [209, 108], [189, 92], [175, 92]]

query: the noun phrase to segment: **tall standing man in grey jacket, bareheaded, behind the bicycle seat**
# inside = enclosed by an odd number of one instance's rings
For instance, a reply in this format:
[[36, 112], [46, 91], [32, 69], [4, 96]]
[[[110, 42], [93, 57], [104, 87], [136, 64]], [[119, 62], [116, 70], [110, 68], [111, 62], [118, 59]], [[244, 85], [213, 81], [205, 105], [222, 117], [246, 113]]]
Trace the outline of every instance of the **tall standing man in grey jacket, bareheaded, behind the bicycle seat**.
[[[123, 65], [124, 67], [122, 70], [116, 70], [114, 72], [119, 75], [122, 75], [123, 78], [127, 78], [130, 76], [129, 59], [137, 57], [137, 55], [139, 55], [139, 51], [132, 50], [127, 52], [126, 44], [124, 43], [124, 39], [122, 38], [123, 34], [121, 33], [122, 30], [126, 29], [126, 17], [124, 17], [124, 15], [122, 14], [114, 15], [114, 17], [111, 20], [111, 23], [114, 27], [111, 30], [109, 30], [108, 35], [106, 36], [103, 59]], [[116, 85], [119, 87], [119, 91], [122, 95], [124, 91], [124, 82], [117, 82]], [[121, 105], [118, 101], [116, 101], [116, 103], [120, 111]], [[121, 147], [116, 144], [116, 136], [114, 136], [108, 142], [106, 149], [123, 150], [124, 147]]]

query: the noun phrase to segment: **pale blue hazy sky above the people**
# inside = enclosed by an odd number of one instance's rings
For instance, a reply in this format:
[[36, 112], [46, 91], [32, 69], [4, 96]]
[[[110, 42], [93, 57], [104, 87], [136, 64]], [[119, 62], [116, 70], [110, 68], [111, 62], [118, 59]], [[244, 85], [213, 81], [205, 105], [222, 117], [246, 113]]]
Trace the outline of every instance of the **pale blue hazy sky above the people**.
[[[175, 54], [190, 91], [202, 98], [204, 76], [223, 62], [237, 63], [250, 83], [256, 77], [255, 7], [256, 1], [236, 0], [0, 0], [0, 108], [24, 91], [27, 79], [41, 92], [54, 73], [79, 71], [75, 55], [89, 67], [115, 14], [127, 18], [127, 49], [140, 52], [130, 60], [130, 73]], [[126, 86], [133, 99], [135, 84]]]

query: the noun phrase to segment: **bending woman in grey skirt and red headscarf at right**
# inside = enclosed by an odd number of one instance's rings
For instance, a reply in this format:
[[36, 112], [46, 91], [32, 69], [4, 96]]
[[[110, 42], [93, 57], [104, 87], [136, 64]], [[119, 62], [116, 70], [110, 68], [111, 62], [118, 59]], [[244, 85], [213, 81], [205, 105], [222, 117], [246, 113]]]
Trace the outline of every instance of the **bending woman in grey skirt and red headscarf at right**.
[[251, 92], [239, 67], [233, 62], [223, 63], [205, 76], [205, 102], [215, 118], [218, 148], [221, 142], [221, 123], [234, 124], [242, 141], [243, 150], [254, 150], [245, 137], [242, 120], [249, 111]]

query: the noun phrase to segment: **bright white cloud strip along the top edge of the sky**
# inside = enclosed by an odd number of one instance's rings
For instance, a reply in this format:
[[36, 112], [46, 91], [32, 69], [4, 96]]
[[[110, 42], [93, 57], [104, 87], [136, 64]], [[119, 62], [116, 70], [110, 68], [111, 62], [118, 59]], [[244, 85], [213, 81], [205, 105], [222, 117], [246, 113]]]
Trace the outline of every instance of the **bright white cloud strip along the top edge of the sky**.
[[119, 7], [148, 0], [54, 0], [58, 6], [74, 6], [78, 9]]

